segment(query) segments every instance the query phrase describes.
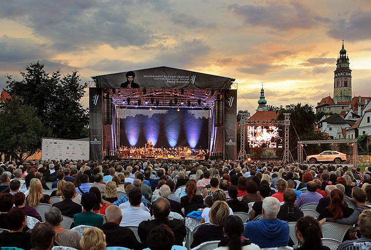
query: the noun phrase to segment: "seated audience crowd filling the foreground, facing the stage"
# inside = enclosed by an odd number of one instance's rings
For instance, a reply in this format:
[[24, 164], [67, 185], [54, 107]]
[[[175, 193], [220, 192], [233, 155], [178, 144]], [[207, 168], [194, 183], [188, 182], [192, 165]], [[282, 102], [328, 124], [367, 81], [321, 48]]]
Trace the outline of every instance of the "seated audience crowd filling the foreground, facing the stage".
[[370, 176], [282, 161], [9, 161], [0, 164], [0, 245], [170, 250], [191, 239], [189, 248], [324, 250], [321, 226], [335, 222], [353, 228], [338, 249], [371, 249]]

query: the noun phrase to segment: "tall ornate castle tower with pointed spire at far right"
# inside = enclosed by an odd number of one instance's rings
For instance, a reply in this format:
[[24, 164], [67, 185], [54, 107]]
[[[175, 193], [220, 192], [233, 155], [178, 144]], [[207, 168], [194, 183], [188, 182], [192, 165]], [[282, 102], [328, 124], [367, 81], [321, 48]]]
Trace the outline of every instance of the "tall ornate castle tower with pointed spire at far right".
[[334, 102], [351, 102], [351, 69], [349, 68], [349, 57], [346, 55], [344, 40], [340, 56], [336, 60], [334, 71], [333, 96]]

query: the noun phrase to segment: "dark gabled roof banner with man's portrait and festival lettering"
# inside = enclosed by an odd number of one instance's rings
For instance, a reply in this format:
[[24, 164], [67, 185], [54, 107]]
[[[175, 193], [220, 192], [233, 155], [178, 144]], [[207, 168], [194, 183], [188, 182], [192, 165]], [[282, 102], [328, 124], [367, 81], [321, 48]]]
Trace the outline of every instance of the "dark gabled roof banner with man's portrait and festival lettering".
[[92, 76], [101, 88], [200, 88], [229, 89], [234, 78], [178, 69], [153, 67]]

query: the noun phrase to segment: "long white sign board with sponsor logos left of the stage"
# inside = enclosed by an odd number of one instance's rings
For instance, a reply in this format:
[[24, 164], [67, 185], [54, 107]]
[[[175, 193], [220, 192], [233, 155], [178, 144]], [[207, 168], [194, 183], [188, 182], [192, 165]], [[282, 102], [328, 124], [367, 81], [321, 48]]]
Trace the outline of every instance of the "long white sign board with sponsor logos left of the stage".
[[89, 141], [43, 138], [42, 159], [89, 159]]

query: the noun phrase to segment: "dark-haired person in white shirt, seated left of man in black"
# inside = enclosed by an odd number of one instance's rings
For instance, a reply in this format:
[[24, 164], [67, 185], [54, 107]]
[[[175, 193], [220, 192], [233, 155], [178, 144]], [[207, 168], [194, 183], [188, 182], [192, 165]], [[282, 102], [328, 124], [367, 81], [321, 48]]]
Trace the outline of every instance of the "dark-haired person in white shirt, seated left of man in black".
[[122, 219], [120, 222], [121, 226], [134, 225], [138, 226], [143, 220], [150, 219], [151, 215], [149, 212], [144, 211], [140, 207], [142, 201], [142, 191], [139, 187], [133, 187], [128, 190], [130, 206], [121, 208]]

